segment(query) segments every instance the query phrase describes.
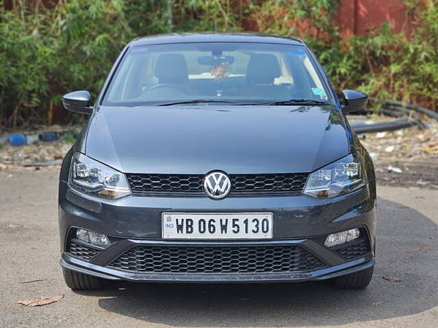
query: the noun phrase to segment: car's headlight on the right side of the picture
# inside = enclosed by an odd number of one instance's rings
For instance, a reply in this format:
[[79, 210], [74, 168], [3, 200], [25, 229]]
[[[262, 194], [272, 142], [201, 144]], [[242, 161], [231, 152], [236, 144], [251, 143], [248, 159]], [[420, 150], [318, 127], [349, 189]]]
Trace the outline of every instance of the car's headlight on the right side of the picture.
[[329, 198], [359, 189], [365, 183], [361, 161], [350, 154], [311, 173], [304, 193], [312, 197]]

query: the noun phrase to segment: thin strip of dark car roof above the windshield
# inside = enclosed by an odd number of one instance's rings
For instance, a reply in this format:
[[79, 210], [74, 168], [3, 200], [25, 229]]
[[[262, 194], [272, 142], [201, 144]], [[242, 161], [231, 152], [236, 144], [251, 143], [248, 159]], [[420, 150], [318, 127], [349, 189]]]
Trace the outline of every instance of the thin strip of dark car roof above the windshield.
[[191, 42], [248, 42], [305, 45], [298, 38], [289, 38], [273, 34], [261, 33], [172, 33], [158, 36], [136, 38], [129, 46], [145, 46], [151, 44], [172, 44]]

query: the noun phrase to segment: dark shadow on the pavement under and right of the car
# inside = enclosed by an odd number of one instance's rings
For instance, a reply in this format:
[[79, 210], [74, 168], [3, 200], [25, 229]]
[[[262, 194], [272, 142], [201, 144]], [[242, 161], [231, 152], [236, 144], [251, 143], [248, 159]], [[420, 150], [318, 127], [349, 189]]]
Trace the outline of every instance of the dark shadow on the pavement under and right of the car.
[[[126, 282], [81, 294], [99, 297], [99, 306], [107, 311], [145, 323], [192, 327], [340, 325], [434, 308], [438, 305], [437, 225], [412, 208], [383, 199], [378, 200], [378, 217], [385, 218], [378, 220], [378, 264], [365, 290], [336, 290], [326, 282]], [[383, 276], [398, 277], [401, 282], [389, 282]]]

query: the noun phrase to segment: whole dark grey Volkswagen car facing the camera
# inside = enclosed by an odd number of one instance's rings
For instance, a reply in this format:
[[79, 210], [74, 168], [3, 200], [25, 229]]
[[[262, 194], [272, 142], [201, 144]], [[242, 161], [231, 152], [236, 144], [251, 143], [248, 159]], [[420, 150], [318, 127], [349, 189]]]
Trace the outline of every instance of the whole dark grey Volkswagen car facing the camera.
[[94, 105], [83, 90], [62, 98], [90, 115], [60, 172], [66, 285], [368, 286], [374, 167], [345, 116], [368, 98], [339, 98], [297, 38], [131, 41]]

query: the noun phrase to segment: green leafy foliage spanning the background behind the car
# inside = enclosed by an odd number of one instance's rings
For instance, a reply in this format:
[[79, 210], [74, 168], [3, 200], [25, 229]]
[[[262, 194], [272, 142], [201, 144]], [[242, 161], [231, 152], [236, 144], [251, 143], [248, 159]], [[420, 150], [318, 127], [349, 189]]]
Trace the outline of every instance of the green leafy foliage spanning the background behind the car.
[[438, 100], [437, 0], [405, 0], [414, 18], [411, 36], [385, 23], [351, 38], [339, 37], [333, 19], [339, 0], [12, 2], [14, 8], [5, 11], [0, 0], [0, 128], [47, 122], [49, 109], [66, 92], [96, 96], [129, 40], [172, 31], [249, 28], [298, 36], [337, 90], [355, 88], [433, 108]]

